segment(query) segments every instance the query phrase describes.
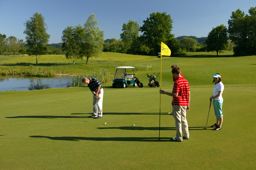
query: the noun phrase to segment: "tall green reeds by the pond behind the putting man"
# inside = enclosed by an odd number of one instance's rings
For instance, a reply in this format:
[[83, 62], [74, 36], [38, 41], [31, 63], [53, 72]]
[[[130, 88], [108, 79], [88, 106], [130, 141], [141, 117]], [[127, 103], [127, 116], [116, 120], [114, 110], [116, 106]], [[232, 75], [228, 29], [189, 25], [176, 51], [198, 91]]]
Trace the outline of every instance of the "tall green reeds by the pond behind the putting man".
[[85, 72], [84, 74], [73, 76], [73, 78], [71, 79], [70, 86], [86, 86], [86, 84], [82, 83], [82, 79], [85, 77], [97, 78], [101, 83], [108, 83], [113, 80], [113, 76], [105, 68], [101, 68], [99, 70], [91, 70], [88, 75]]

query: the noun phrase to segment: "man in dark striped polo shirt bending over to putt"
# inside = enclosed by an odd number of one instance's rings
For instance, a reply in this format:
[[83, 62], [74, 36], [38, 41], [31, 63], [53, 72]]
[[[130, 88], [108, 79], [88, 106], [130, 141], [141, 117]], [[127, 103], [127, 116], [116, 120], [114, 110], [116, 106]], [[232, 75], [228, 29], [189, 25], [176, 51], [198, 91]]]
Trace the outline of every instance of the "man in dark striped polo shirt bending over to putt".
[[93, 114], [90, 115], [90, 118], [99, 119], [102, 118], [102, 102], [103, 102], [103, 89], [100, 81], [96, 78], [87, 79], [83, 78], [82, 83], [87, 84], [91, 90], [93, 96]]

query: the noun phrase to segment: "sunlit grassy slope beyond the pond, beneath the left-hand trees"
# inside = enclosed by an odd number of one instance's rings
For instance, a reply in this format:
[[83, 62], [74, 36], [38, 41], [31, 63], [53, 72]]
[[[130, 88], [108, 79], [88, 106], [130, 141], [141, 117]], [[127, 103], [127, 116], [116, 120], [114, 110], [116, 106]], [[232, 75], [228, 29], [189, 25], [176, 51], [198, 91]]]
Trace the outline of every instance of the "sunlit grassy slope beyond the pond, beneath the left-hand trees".
[[104, 67], [114, 74], [114, 68], [122, 66], [126, 62], [150, 60], [153, 58], [156, 57], [105, 52], [98, 58], [90, 58], [88, 64], [86, 64], [85, 58], [84, 60], [75, 59], [75, 65], [73, 65], [73, 59], [66, 60], [64, 55], [42, 55], [38, 58], [38, 64], [36, 64], [36, 57], [32, 56], [3, 61], [1, 61], [0, 56], [0, 69], [18, 69], [21, 67], [28, 69], [28, 66], [32, 64], [36, 67], [42, 67], [43, 69], [58, 70], [64, 74], [84, 74], [90, 70]]

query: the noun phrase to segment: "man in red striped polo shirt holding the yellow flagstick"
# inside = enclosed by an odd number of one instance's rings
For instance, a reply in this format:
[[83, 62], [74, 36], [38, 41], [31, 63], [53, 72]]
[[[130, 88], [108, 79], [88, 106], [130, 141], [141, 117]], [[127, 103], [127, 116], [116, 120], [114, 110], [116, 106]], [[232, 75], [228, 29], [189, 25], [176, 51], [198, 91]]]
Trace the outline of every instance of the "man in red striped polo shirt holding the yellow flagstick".
[[172, 69], [172, 75], [176, 78], [172, 93], [160, 90], [160, 94], [173, 97], [172, 115], [175, 118], [176, 137], [172, 138], [172, 140], [177, 142], [181, 142], [183, 139], [189, 139], [186, 111], [190, 109], [190, 88], [188, 81], [181, 77], [180, 73], [180, 68], [175, 67]]

